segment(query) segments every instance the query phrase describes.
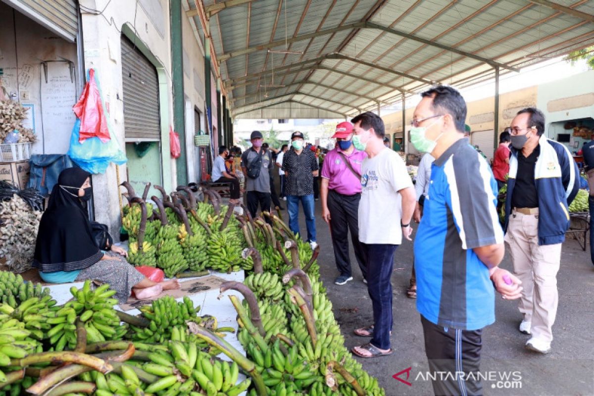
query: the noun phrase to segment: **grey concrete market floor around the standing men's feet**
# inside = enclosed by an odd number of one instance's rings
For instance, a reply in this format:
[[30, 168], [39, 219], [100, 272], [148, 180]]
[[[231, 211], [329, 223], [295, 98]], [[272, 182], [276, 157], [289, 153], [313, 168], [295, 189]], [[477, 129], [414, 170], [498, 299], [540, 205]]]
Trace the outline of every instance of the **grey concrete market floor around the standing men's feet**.
[[[320, 202], [316, 204], [321, 278], [333, 302], [334, 315], [342, 327], [346, 346], [350, 348], [368, 341], [368, 338], [353, 335], [353, 329], [371, 324], [371, 300], [362, 283], [352, 248], [354, 280], [344, 286], [333, 283], [337, 272], [330, 233], [320, 216]], [[286, 206], [286, 202], [283, 205]], [[299, 223], [302, 235], [307, 235], [303, 216]], [[412, 243], [406, 241], [396, 251], [392, 276], [394, 328], [391, 342], [394, 354], [360, 359], [365, 370], [378, 378], [388, 396], [433, 394], [431, 382], [420, 376], [428, 366], [419, 313], [415, 300], [408, 299], [405, 294], [411, 262]], [[501, 266], [511, 269], [508, 255]], [[517, 303], [497, 298], [497, 320], [485, 328], [483, 335], [481, 372], [488, 376], [483, 381], [485, 395], [594, 395], [594, 266], [590, 262], [589, 247], [584, 252], [576, 240], [564, 243], [558, 289], [560, 301], [553, 327], [555, 340], [548, 355], [524, 349], [529, 336], [517, 330], [522, 319]], [[407, 380], [410, 385], [393, 378], [394, 374], [408, 368], [411, 368]], [[406, 380], [406, 372], [399, 378]]]

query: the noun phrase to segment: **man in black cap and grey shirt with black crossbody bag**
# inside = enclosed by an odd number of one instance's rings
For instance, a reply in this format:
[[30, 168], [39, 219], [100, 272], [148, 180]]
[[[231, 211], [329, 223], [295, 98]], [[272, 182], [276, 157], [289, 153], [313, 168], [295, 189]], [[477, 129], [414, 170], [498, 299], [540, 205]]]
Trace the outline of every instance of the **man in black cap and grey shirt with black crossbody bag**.
[[[247, 191], [248, 210], [252, 217], [261, 211], [270, 211], [270, 171], [274, 164], [270, 153], [265, 153], [264, 142], [260, 131], [251, 134], [252, 147], [245, 150], [241, 156], [241, 169], [245, 177], [245, 191]], [[270, 221], [265, 218], [264, 220]]]

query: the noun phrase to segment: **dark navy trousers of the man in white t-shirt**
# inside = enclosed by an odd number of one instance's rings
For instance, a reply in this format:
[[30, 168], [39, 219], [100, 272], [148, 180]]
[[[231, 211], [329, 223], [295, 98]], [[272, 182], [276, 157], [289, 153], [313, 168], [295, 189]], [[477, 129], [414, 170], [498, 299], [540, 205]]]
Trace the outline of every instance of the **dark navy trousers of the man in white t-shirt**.
[[392, 330], [392, 268], [398, 245], [362, 244], [367, 253], [367, 292], [373, 307], [373, 338], [371, 344], [390, 349]]

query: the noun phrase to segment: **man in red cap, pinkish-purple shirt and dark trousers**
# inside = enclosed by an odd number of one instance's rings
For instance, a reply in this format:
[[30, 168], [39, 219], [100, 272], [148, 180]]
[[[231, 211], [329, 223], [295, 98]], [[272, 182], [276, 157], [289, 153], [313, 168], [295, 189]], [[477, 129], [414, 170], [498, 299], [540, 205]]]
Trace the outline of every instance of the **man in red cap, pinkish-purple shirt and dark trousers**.
[[349, 258], [350, 237], [355, 248], [355, 257], [361, 268], [363, 281], [366, 281], [366, 253], [359, 242], [358, 211], [361, 199], [361, 164], [367, 157], [365, 151], [353, 146], [352, 123], [345, 121], [336, 126], [336, 148], [324, 159], [322, 166], [322, 217], [330, 224], [330, 234], [334, 247], [334, 259], [339, 276], [336, 284], [352, 280]]

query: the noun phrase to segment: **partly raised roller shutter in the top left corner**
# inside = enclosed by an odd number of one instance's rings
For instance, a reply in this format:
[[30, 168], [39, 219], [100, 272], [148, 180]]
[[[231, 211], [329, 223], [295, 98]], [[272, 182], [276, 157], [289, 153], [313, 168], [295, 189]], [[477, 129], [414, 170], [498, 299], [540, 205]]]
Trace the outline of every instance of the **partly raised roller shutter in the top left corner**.
[[69, 42], [74, 42], [76, 39], [78, 32], [76, 0], [4, 0], [4, 2]]

